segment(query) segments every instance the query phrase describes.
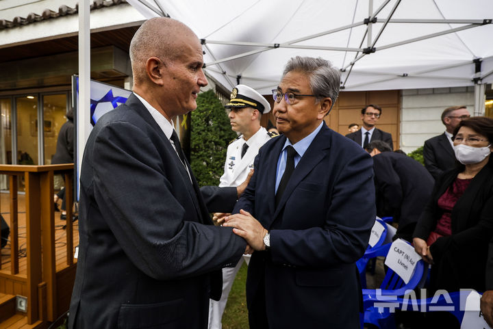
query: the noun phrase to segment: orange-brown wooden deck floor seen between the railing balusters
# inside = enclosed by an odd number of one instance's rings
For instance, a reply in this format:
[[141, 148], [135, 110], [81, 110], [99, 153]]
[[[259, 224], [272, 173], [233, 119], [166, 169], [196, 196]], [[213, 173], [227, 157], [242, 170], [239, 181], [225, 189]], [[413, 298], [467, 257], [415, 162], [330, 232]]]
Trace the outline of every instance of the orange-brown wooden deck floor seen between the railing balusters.
[[[10, 225], [10, 194], [0, 193], [1, 215]], [[63, 228], [64, 220], [60, 220], [60, 212], [55, 212], [55, 255], [56, 271], [59, 272], [66, 267], [66, 232]], [[18, 245], [19, 245], [19, 274], [27, 274], [27, 263], [25, 257], [25, 196], [18, 194]], [[73, 223], [73, 246], [79, 244], [78, 222]], [[1, 272], [10, 273], [10, 243], [1, 250]], [[3, 327], [0, 327], [0, 329]]]

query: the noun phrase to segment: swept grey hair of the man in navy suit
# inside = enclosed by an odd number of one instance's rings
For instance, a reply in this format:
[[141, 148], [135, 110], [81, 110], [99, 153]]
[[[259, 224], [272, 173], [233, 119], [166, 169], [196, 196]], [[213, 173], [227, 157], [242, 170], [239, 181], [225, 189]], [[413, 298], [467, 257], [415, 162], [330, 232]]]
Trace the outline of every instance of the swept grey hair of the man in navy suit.
[[309, 75], [310, 88], [316, 95], [317, 102], [329, 97], [332, 106], [336, 103], [340, 89], [340, 72], [331, 62], [322, 57], [291, 57], [284, 67], [282, 77], [291, 71], [301, 71]]

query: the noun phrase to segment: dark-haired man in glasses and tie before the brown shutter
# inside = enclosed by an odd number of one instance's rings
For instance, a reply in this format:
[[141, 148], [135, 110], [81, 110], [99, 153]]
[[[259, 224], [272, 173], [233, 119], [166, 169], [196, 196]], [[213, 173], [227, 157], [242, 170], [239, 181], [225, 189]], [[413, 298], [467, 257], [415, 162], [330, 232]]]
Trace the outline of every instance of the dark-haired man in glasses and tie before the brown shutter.
[[366, 148], [370, 142], [374, 140], [381, 140], [389, 144], [390, 148], [394, 149], [394, 144], [392, 144], [392, 135], [390, 133], [385, 133], [375, 127], [379, 118], [381, 116], [381, 107], [379, 105], [366, 105], [362, 109], [362, 127], [354, 133], [349, 133], [346, 135], [350, 140], [357, 142], [362, 148]]

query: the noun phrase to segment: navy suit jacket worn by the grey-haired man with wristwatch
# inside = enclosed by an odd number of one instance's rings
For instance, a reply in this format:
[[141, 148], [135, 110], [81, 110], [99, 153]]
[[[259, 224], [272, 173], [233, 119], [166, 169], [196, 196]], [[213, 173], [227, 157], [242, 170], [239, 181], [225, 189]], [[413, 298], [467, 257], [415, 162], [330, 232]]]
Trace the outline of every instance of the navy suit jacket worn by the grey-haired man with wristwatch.
[[253, 252], [249, 264], [249, 317], [262, 313], [253, 301], [264, 294], [270, 329], [358, 328], [355, 261], [375, 222], [372, 160], [324, 123], [275, 207], [285, 141], [282, 135], [260, 148], [255, 173], [233, 210], [249, 211], [270, 231], [270, 250]]

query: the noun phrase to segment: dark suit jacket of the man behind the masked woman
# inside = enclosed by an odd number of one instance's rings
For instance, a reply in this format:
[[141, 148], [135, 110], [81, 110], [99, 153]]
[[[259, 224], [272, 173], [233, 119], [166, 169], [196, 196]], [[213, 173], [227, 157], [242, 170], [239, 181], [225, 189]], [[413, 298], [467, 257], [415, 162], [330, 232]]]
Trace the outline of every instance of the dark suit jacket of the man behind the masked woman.
[[453, 148], [445, 133], [430, 138], [423, 147], [425, 167], [434, 179], [456, 166]]

